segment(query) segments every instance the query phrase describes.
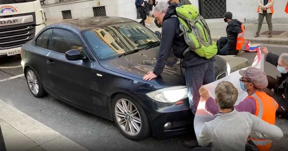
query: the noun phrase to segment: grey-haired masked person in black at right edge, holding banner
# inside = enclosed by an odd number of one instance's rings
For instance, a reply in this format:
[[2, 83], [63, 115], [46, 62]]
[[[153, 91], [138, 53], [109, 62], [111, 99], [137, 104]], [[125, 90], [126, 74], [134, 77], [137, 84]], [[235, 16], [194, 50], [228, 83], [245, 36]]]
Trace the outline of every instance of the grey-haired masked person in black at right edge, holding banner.
[[[279, 104], [280, 108], [277, 110], [276, 115], [288, 118], [288, 53], [278, 56], [277, 54], [268, 52], [266, 47], [260, 47], [259, 50], [267, 54], [265, 60], [277, 67], [277, 70], [281, 73], [281, 76], [277, 76], [277, 79], [267, 76], [268, 86], [262, 90], [273, 97]], [[274, 91], [271, 91], [272, 89]]]

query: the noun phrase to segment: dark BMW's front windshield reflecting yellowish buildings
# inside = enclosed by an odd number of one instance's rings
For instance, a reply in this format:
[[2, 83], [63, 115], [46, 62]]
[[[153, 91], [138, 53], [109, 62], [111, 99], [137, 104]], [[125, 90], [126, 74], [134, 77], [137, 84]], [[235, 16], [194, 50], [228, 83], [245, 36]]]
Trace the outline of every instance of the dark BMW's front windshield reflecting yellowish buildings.
[[160, 37], [138, 22], [125, 22], [83, 32], [98, 60], [110, 60], [120, 54], [160, 42]]

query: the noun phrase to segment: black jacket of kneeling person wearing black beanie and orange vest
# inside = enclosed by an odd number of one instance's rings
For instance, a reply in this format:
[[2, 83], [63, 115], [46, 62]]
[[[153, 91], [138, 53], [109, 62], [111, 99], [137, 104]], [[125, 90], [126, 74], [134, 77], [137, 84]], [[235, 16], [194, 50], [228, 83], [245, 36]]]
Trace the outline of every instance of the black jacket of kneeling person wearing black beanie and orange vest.
[[228, 45], [232, 48], [236, 48], [238, 34], [242, 33], [241, 25], [242, 23], [237, 19], [232, 19], [227, 25], [226, 33]]

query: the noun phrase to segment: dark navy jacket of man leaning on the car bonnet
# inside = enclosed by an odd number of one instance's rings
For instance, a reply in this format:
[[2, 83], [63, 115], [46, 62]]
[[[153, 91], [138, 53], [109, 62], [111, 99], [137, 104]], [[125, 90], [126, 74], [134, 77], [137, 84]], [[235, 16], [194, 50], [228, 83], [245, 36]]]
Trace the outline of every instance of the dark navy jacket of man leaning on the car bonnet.
[[186, 44], [184, 36], [183, 35], [179, 36], [182, 33], [179, 27], [179, 20], [177, 17], [173, 17], [173, 15], [176, 15], [175, 12], [176, 7], [178, 7], [178, 4], [176, 3], [170, 4], [163, 19], [162, 39], [157, 62], [154, 68], [154, 73], [156, 75], [160, 75], [162, 73], [165, 67], [165, 63], [167, 62], [167, 59], [170, 55], [171, 48], [173, 49], [175, 57], [183, 59], [182, 60], [183, 68], [215, 60], [214, 57], [212, 57], [211, 59], [200, 57], [193, 51], [187, 53], [187, 55], [184, 58], [183, 52], [189, 46]]

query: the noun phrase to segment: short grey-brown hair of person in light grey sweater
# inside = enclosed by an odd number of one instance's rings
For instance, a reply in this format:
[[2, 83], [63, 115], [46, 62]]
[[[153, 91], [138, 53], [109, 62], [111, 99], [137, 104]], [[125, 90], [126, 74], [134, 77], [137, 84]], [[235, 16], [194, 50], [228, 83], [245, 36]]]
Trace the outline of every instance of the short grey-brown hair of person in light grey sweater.
[[215, 99], [220, 109], [233, 109], [238, 98], [238, 90], [228, 81], [221, 81], [215, 88]]

